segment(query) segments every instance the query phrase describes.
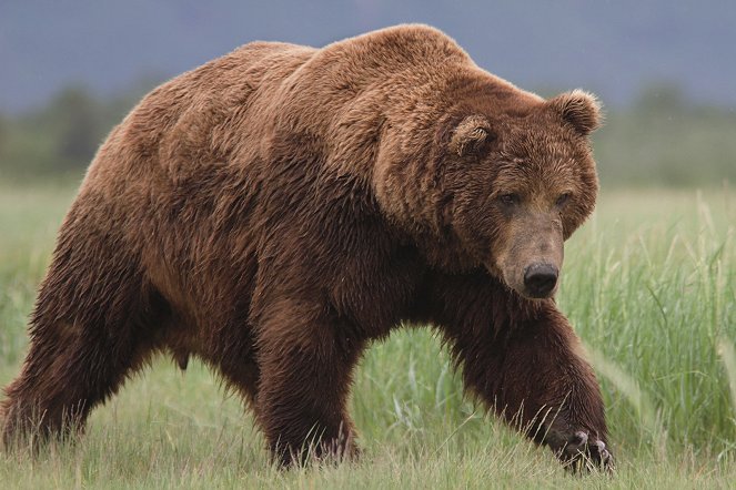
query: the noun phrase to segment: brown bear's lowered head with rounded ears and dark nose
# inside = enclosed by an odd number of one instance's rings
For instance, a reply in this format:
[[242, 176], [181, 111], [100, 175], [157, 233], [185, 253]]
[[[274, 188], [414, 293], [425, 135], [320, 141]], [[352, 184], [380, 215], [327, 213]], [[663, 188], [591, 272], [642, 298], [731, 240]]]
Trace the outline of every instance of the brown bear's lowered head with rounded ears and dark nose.
[[564, 241], [595, 205], [588, 136], [601, 109], [579, 90], [546, 101], [515, 92], [501, 104], [461, 98], [437, 115], [424, 150], [405, 151], [404, 136], [404, 151], [379, 166], [376, 194], [436, 267], [483, 266], [521, 296], [547, 298]]

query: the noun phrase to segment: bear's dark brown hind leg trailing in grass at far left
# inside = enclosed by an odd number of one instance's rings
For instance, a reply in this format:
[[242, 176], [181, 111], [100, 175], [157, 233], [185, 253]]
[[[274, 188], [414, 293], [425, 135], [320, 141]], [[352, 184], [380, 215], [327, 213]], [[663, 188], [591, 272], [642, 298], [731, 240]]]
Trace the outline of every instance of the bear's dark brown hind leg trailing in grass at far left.
[[165, 307], [155, 295], [142, 296], [140, 283], [119, 277], [108, 288], [117, 296], [88, 290], [91, 296], [71, 296], [73, 305], [60, 305], [70, 296], [58, 294], [53, 274], [37, 302], [22, 371], [0, 405], [8, 447], [81, 429], [90, 410], [114, 395], [157, 348], [152, 324]]

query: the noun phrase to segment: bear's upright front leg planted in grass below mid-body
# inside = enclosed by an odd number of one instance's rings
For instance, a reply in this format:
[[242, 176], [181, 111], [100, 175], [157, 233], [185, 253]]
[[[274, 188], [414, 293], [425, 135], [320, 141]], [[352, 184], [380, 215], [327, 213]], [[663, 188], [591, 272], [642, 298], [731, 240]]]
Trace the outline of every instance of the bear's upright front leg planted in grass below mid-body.
[[282, 466], [357, 453], [346, 401], [363, 343], [325, 309], [279, 302], [259, 323], [256, 414]]

